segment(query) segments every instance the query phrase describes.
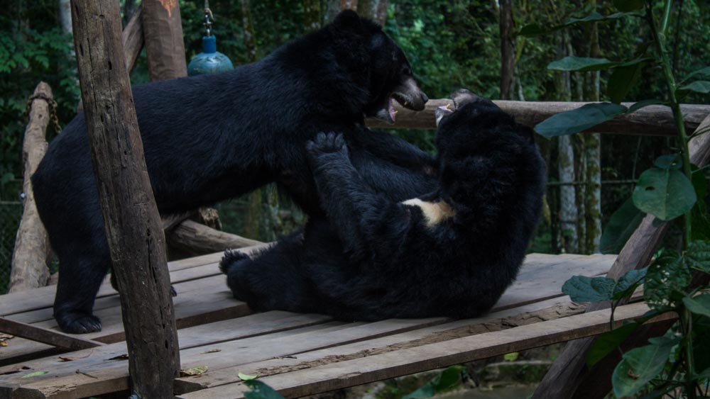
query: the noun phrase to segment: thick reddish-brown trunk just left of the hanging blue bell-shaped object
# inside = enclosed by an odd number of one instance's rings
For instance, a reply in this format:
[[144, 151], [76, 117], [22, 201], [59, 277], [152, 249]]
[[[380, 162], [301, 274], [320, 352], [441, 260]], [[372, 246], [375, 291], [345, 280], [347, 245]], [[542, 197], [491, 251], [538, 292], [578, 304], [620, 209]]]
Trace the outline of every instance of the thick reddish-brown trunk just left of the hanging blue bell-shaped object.
[[151, 81], [187, 76], [178, 1], [143, 0], [141, 6]]

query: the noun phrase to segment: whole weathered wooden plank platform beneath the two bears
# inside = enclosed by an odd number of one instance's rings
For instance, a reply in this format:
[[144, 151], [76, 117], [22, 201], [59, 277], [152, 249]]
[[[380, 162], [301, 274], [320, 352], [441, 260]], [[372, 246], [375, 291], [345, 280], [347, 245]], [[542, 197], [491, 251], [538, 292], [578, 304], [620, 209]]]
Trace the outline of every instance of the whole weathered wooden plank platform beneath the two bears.
[[[253, 247], [252, 247], [253, 249]], [[497, 354], [599, 334], [608, 311], [581, 315], [584, 307], [562, 296], [569, 276], [596, 276], [611, 255], [530, 254], [496, 308], [485, 317], [443, 317], [382, 322], [335, 322], [324, 315], [282, 311], [252, 313], [231, 298], [217, 261], [222, 254], [171, 262], [178, 296], [182, 369], [207, 366], [201, 376], [175, 383], [180, 398], [242, 398], [239, 372], [259, 378], [288, 397], [378, 381]], [[56, 328], [53, 286], [0, 296], [0, 315]], [[645, 313], [643, 303], [618, 308], [616, 320]], [[104, 330], [81, 337], [104, 343], [60, 351], [20, 337], [0, 347], [0, 398], [83, 398], [129, 388], [119, 298], [108, 283], [95, 313]]]

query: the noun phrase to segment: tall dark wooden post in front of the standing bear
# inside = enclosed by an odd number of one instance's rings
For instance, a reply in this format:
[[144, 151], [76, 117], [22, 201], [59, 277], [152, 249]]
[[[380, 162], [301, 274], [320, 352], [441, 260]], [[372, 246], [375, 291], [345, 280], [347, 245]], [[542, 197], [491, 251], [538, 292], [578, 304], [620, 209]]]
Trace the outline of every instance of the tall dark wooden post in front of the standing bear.
[[180, 354], [165, 237], [125, 68], [119, 3], [72, 0], [72, 20], [94, 174], [121, 292], [133, 391], [140, 398], [172, 398]]

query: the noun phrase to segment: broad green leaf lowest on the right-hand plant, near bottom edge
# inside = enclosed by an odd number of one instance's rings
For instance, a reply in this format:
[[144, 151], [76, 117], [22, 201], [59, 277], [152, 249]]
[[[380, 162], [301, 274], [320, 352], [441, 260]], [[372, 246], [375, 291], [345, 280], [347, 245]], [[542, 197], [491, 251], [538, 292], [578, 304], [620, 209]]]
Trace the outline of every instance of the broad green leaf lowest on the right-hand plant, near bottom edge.
[[623, 398], [646, 388], [663, 371], [670, 351], [666, 345], [647, 345], [626, 352], [611, 376], [614, 395]]

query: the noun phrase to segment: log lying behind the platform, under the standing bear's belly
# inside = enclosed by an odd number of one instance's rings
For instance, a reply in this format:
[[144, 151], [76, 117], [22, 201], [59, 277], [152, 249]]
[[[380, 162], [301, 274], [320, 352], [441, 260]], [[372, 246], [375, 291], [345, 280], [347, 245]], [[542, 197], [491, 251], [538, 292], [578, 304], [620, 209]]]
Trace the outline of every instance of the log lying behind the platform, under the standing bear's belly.
[[192, 254], [209, 254], [259, 245], [262, 242], [249, 240], [239, 235], [229, 234], [207, 227], [194, 220], [184, 220], [167, 233], [170, 245]]

